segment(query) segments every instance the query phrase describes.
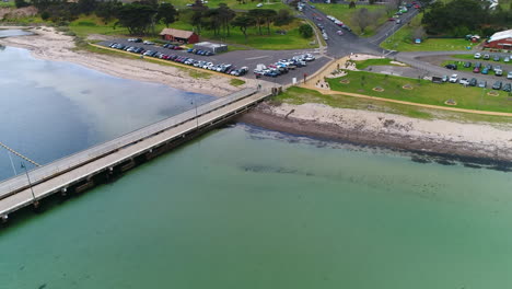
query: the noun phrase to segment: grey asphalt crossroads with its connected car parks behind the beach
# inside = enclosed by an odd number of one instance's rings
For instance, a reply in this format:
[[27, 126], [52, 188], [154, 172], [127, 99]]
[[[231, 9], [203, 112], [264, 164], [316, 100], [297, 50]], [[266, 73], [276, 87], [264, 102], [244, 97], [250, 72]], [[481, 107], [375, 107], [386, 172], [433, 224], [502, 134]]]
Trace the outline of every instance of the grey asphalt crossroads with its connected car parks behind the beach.
[[[496, 77], [493, 74], [475, 74], [472, 72], [464, 72], [461, 70], [452, 71], [440, 67], [439, 65], [432, 65], [429, 61], [421, 60], [422, 57], [430, 57], [430, 56], [450, 56], [455, 54], [474, 54], [475, 51], [419, 51], [419, 53], [394, 53], [382, 49], [379, 47], [379, 44], [385, 41], [389, 35], [392, 35], [396, 30], [406, 25], [416, 14], [418, 11], [416, 9], [410, 9], [407, 13], [402, 15], [402, 23], [396, 24], [394, 21], [389, 21], [385, 23], [383, 26], [379, 28], [376, 34], [369, 38], [362, 38], [358, 35], [348, 32], [334, 22], [328, 20], [325, 14], [316, 9], [312, 9], [310, 5], [305, 5], [303, 10], [303, 18], [311, 20], [313, 23], [322, 23], [324, 25], [326, 34], [328, 35], [329, 39], [326, 41], [327, 43], [327, 51], [326, 56], [324, 57], [319, 48], [312, 48], [312, 49], [300, 49], [300, 50], [235, 50], [225, 54], [214, 55], [214, 56], [197, 56], [187, 54], [185, 50], [170, 50], [159, 46], [152, 45], [143, 45], [143, 44], [133, 44], [129, 43], [126, 39], [117, 39], [117, 43], [123, 43], [125, 45], [133, 45], [133, 46], [141, 46], [144, 49], [152, 49], [158, 50], [163, 54], [176, 54], [183, 55], [196, 60], [206, 60], [211, 61], [216, 65], [218, 63], [232, 63], [233, 66], [240, 67], [248, 67], [249, 72], [244, 76], [244, 78], [254, 79], [255, 74], [253, 70], [256, 68], [257, 65], [270, 65], [279, 59], [288, 59], [292, 58], [296, 55], [302, 54], [313, 54], [316, 57], [315, 61], [307, 62], [307, 67], [298, 68], [295, 70], [291, 70], [289, 73], [277, 77], [277, 78], [269, 78], [269, 77], [261, 77], [263, 80], [275, 82], [276, 84], [288, 84], [292, 82], [292, 79], [295, 78], [298, 81], [301, 81], [304, 77], [313, 74], [319, 68], [322, 68], [325, 63], [327, 63], [330, 58], [341, 58], [344, 56], [350, 54], [371, 54], [371, 55], [384, 55], [387, 57], [393, 57], [398, 61], [405, 62], [415, 68], [415, 70], [407, 71], [407, 73], [417, 73], [421, 77], [432, 77], [432, 76], [450, 76], [452, 73], [457, 73], [459, 78], [477, 78], [478, 80], [487, 80], [488, 85], [489, 83], [493, 83], [497, 80], [501, 81], [509, 81], [507, 77]], [[344, 21], [340, 19], [340, 21]], [[342, 31], [342, 35], [338, 35], [337, 32]], [[103, 42], [100, 45], [108, 46], [112, 42]], [[503, 63], [501, 63], [504, 66]], [[507, 69], [505, 69], [507, 70]], [[208, 71], [208, 70], [206, 70]], [[375, 70], [376, 71], [376, 70]], [[508, 70], [507, 70], [508, 71]], [[397, 71], [398, 72], [398, 71]]]

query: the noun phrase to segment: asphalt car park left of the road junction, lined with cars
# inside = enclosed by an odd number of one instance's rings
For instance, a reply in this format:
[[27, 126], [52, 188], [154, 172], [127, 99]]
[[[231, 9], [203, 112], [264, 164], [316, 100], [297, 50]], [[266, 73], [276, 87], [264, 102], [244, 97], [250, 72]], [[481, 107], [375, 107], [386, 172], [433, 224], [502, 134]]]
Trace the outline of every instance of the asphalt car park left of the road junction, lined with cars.
[[[243, 76], [244, 78], [255, 79], [256, 74], [253, 72], [258, 65], [269, 66], [281, 59], [291, 59], [305, 54], [311, 54], [315, 57], [314, 61], [307, 61], [305, 67], [298, 67], [293, 70], [289, 70], [288, 73], [278, 76], [278, 77], [261, 77], [263, 80], [275, 82], [276, 84], [288, 84], [292, 82], [292, 79], [295, 78], [298, 81], [303, 80], [304, 73], [311, 76], [325, 63], [328, 62], [328, 59], [325, 57], [319, 57], [318, 49], [303, 49], [303, 50], [235, 50], [213, 56], [201, 56], [187, 53], [186, 49], [183, 50], [173, 50], [163, 48], [160, 45], [147, 45], [142, 43], [132, 43], [128, 42], [127, 38], [115, 39], [108, 42], [101, 42], [98, 45], [108, 47], [113, 43], [123, 44], [125, 46], [136, 46], [142, 47], [144, 50], [155, 50], [162, 54], [173, 54], [182, 57], [193, 58], [199, 61], [212, 62], [214, 65], [232, 65], [235, 68], [247, 67], [248, 73]], [[198, 68], [199, 69], [199, 68]], [[206, 70], [208, 71], [208, 70]]]

